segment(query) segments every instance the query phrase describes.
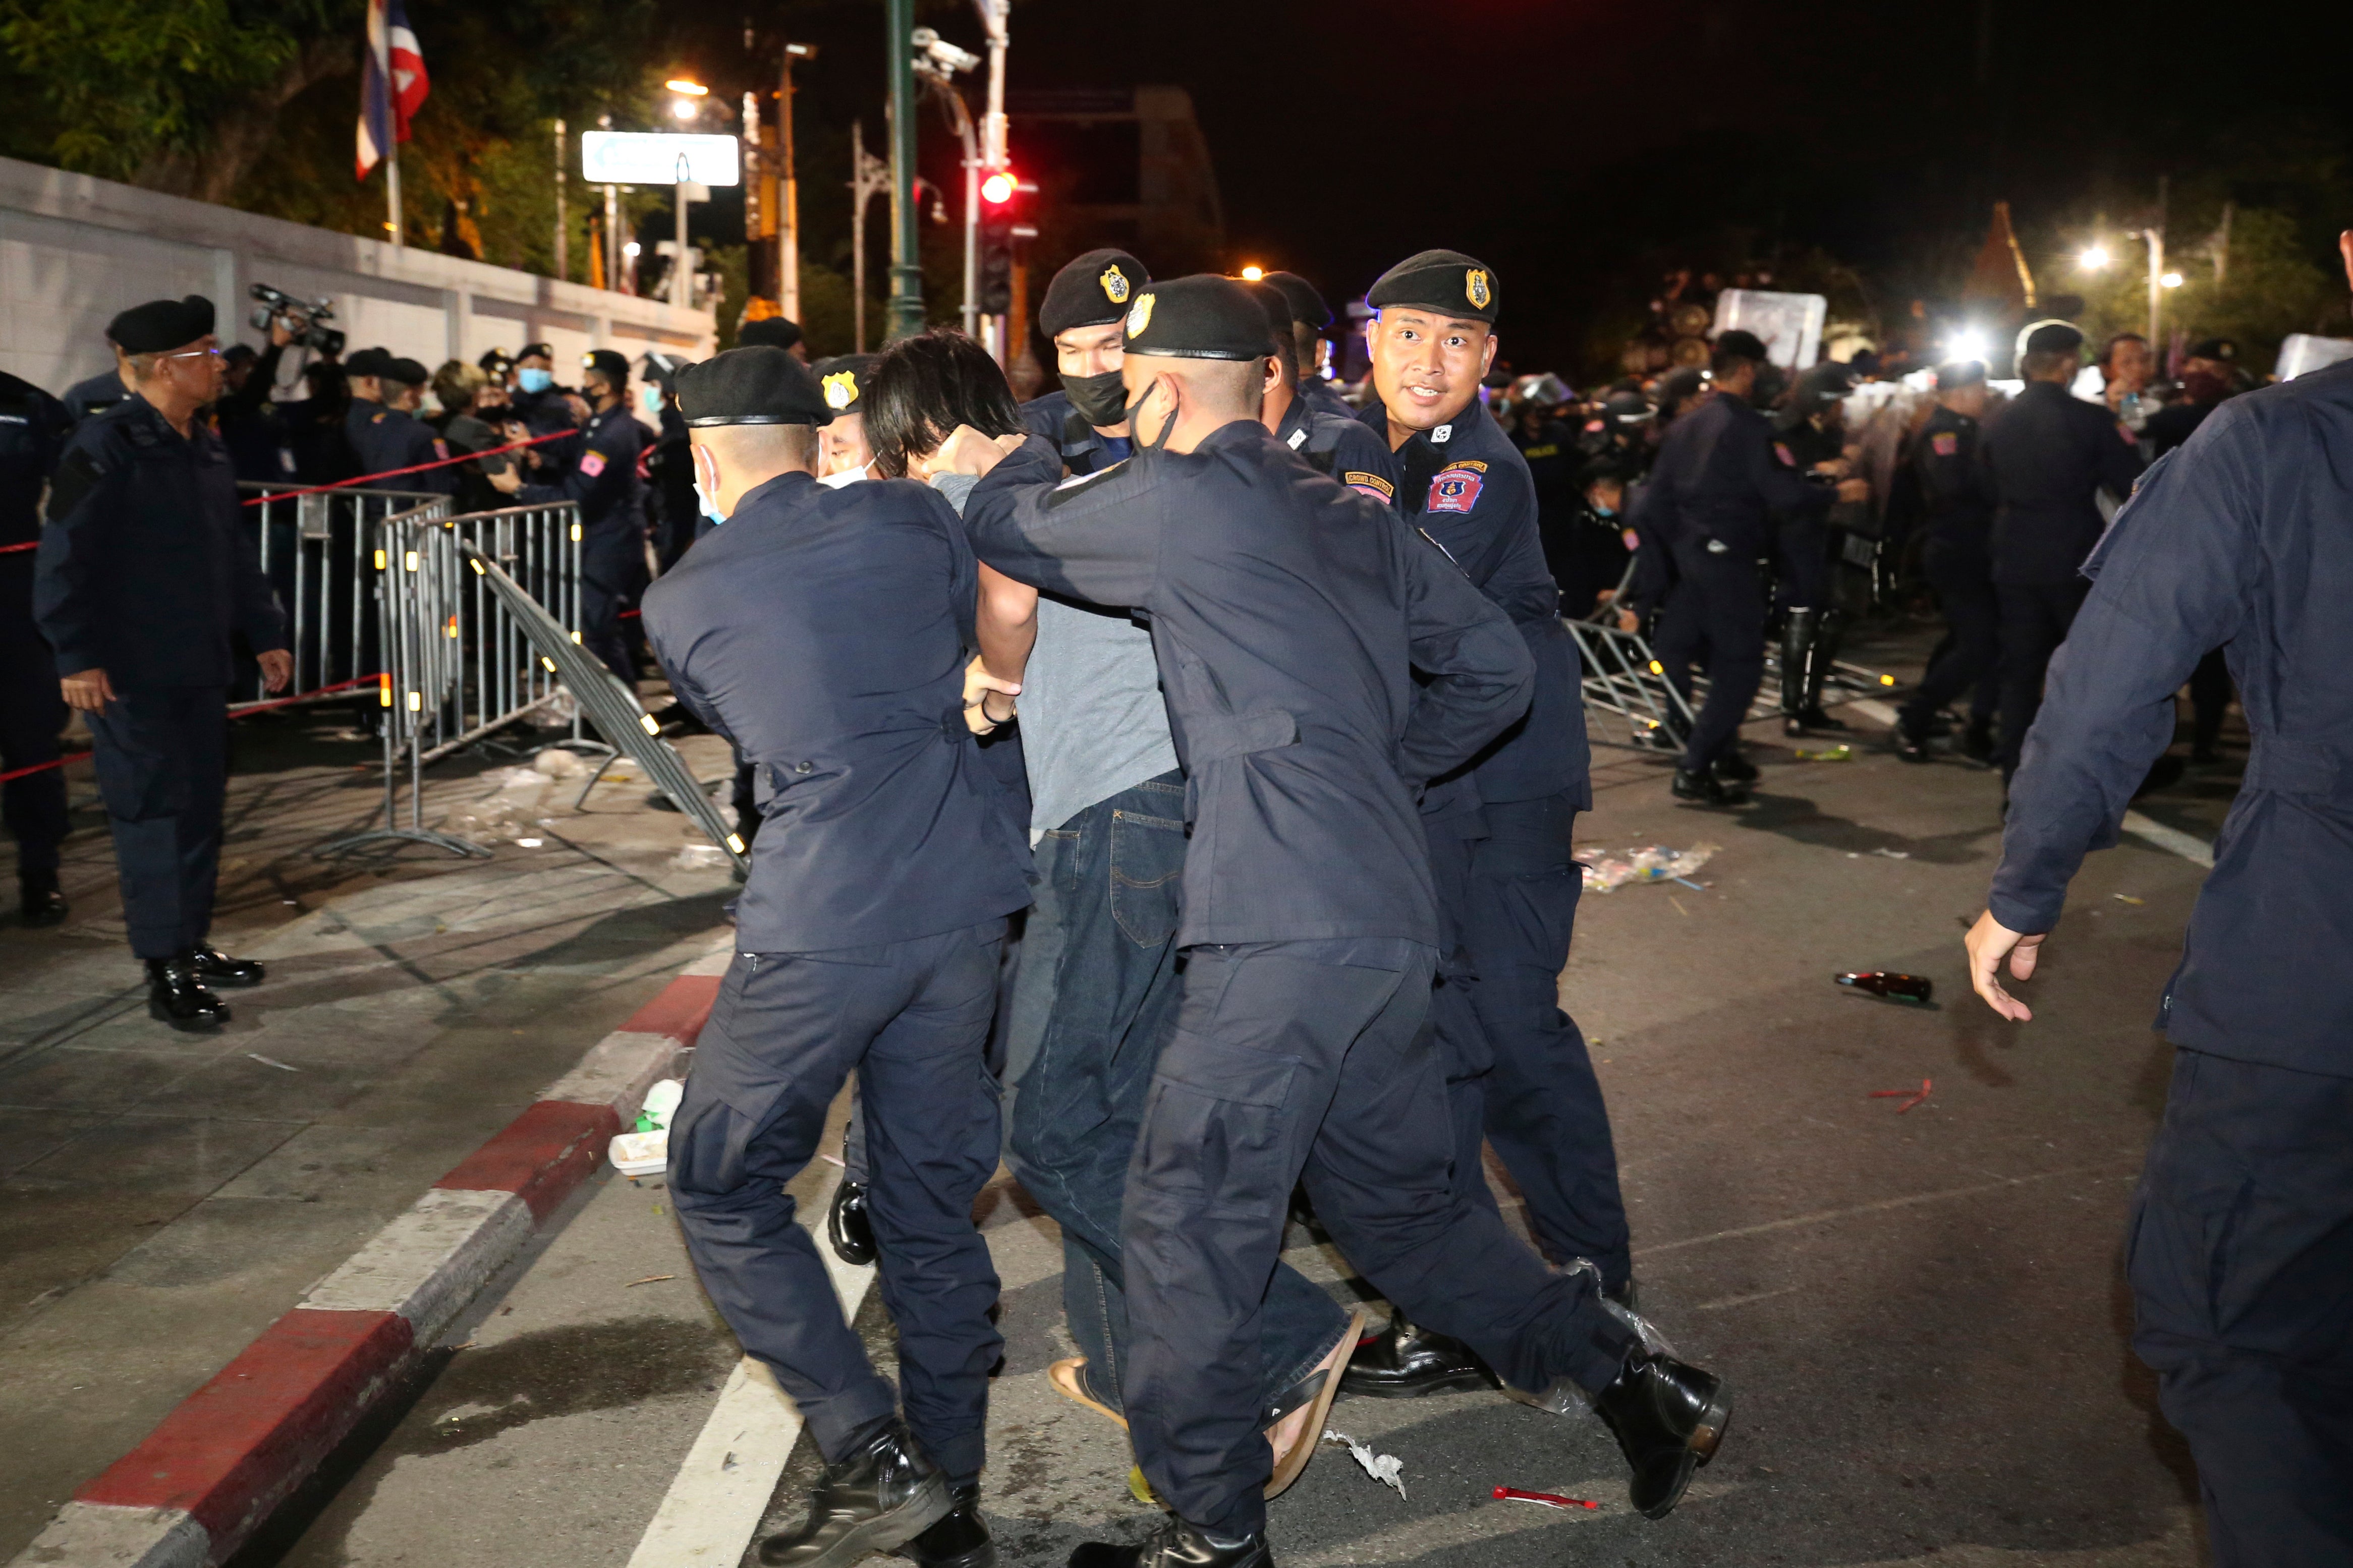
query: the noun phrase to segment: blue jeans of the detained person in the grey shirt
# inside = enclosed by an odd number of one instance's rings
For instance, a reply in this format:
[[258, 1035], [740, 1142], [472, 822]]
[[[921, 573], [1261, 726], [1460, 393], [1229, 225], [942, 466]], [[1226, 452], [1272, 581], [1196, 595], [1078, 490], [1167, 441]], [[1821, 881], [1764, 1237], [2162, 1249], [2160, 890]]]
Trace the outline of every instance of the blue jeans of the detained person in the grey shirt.
[[[1061, 1305], [1094, 1392], [1120, 1406], [1120, 1208], [1153, 1070], [1176, 1023], [1184, 780], [1148, 778], [1038, 844], [1038, 903], [1005, 1046], [1005, 1164], [1061, 1225]], [[1266, 1396], [1299, 1382], [1348, 1316], [1289, 1265], [1261, 1314]]]

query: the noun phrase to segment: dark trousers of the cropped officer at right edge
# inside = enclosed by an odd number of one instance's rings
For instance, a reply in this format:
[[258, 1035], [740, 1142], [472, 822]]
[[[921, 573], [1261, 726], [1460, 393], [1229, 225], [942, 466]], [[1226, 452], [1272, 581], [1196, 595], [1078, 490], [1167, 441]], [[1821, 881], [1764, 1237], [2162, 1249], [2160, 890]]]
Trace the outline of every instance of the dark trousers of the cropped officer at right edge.
[[2353, 1077], [2174, 1056], [2132, 1201], [2132, 1345], [2217, 1568], [2353, 1563]]

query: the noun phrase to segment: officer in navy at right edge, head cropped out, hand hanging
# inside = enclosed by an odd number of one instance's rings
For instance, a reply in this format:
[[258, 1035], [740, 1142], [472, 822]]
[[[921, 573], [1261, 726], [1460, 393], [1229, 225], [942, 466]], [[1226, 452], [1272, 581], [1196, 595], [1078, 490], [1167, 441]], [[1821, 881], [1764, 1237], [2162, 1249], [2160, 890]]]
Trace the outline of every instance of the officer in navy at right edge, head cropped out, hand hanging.
[[[2353, 230], [2339, 249], [2353, 280]], [[2224, 646], [2252, 755], [2158, 1004], [2174, 1072], [2125, 1241], [2132, 1345], [2198, 1460], [2217, 1568], [2353, 1561], [2348, 515], [2353, 364], [2228, 400], [2148, 470], [2082, 564], [1969, 931], [1977, 992], [2031, 1018], [2002, 959], [2035, 971], [2172, 745], [2174, 691]]]

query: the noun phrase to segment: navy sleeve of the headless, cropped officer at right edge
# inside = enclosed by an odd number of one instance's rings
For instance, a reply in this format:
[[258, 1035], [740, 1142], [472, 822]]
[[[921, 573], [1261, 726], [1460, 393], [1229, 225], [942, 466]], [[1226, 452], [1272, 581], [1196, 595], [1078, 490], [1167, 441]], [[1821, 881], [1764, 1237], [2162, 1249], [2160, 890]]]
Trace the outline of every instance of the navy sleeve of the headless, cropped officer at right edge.
[[2174, 691], [2238, 635], [2261, 555], [2261, 451], [2242, 425], [2160, 461], [2085, 562], [2094, 574], [2009, 788], [1988, 907], [2049, 931], [2066, 884], [2174, 738]]

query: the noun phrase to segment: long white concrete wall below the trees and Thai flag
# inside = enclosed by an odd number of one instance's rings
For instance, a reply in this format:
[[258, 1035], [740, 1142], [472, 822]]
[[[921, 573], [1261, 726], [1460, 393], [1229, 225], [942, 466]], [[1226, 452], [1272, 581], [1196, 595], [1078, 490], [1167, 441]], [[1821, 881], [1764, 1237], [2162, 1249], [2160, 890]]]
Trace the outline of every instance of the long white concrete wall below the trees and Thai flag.
[[[106, 369], [106, 322], [148, 299], [207, 294], [221, 341], [259, 348], [264, 334], [245, 324], [256, 282], [334, 296], [351, 348], [381, 343], [428, 367], [532, 341], [555, 348], [558, 378], [591, 348], [633, 360], [713, 350], [708, 310], [0, 158], [0, 369], [33, 386], [64, 393]], [[287, 378], [296, 371], [289, 355]]]

